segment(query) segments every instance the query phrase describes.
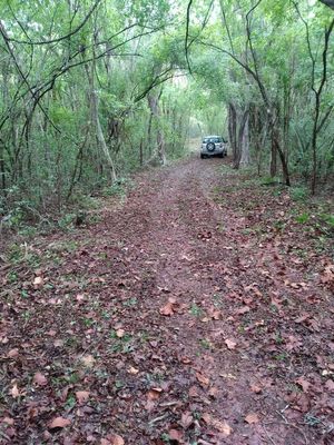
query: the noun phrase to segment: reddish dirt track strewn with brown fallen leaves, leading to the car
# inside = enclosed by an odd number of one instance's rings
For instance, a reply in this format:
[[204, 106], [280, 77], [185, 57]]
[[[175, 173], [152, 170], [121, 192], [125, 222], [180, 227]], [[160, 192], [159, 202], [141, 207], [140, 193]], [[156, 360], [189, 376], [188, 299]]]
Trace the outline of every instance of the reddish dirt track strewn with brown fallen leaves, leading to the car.
[[331, 258], [293, 210], [191, 158], [26, 246], [2, 273], [0, 443], [333, 443]]

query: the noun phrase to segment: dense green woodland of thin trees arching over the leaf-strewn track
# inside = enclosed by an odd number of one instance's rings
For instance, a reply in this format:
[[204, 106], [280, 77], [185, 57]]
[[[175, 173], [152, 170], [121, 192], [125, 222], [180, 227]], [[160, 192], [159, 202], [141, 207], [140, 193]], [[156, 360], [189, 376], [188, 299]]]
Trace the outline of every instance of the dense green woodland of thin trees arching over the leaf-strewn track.
[[0, 215], [61, 210], [205, 132], [235, 168], [333, 186], [328, 6], [2, 1]]

